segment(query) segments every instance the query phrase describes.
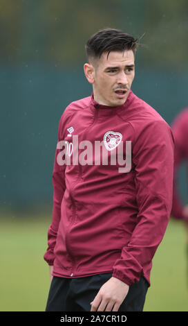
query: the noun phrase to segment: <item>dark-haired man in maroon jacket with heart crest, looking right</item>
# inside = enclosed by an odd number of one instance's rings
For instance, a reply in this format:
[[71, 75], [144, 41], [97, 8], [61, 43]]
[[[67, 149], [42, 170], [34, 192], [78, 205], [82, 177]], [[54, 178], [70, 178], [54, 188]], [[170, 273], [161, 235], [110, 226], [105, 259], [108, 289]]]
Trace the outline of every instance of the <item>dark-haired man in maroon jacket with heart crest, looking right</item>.
[[[46, 311], [144, 307], [171, 212], [173, 137], [131, 91], [137, 48], [138, 40], [120, 30], [91, 36], [84, 74], [93, 93], [68, 105], [59, 121]], [[114, 162], [121, 154], [127, 166]]]

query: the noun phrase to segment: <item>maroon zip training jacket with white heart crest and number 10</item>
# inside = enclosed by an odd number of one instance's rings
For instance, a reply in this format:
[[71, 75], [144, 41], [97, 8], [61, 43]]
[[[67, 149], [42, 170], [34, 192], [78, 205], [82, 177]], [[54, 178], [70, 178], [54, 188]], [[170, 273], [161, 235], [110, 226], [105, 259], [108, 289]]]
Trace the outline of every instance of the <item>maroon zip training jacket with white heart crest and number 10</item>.
[[[106, 155], [119, 146], [110, 149], [110, 139], [119, 137], [124, 158], [125, 141], [131, 141], [131, 171], [120, 172], [118, 163], [59, 165], [62, 148], [57, 146], [53, 218], [44, 259], [59, 277], [112, 272], [128, 285], [141, 275], [150, 284], [151, 260], [171, 212], [171, 128], [130, 91], [124, 105], [115, 108], [98, 104], [93, 94], [68, 105], [59, 121], [58, 144], [71, 144], [73, 135], [79, 144], [91, 141], [93, 148], [94, 141], [106, 141]], [[68, 153], [73, 155], [70, 146]]]

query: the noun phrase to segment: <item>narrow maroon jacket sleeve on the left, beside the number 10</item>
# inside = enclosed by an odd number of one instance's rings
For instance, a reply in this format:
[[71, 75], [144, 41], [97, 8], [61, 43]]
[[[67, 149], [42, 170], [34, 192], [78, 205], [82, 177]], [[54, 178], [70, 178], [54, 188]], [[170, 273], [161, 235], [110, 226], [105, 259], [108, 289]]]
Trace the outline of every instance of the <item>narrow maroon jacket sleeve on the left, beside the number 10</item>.
[[[58, 128], [58, 141], [62, 139], [62, 118], [59, 121]], [[61, 204], [62, 198], [64, 196], [64, 191], [66, 189], [65, 185], [65, 165], [59, 165], [57, 163], [57, 155], [61, 151], [61, 149], [56, 148], [55, 151], [55, 160], [53, 166], [53, 215], [52, 215], [52, 223], [48, 228], [48, 248], [46, 253], [44, 254], [44, 260], [48, 263], [48, 265], [53, 265], [53, 261], [55, 259], [54, 248], [57, 238], [57, 231], [59, 228], [59, 221], [61, 218]]]

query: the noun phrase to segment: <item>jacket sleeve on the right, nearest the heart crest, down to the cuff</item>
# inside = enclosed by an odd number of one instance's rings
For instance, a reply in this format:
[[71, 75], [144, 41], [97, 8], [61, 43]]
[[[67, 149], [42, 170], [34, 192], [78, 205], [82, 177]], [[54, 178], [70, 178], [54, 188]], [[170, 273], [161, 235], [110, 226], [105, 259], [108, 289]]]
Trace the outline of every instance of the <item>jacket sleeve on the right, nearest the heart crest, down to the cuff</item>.
[[128, 285], [138, 282], [167, 228], [173, 192], [173, 135], [164, 121], [144, 126], [136, 135], [133, 152], [138, 216], [129, 243], [115, 261], [113, 276]]

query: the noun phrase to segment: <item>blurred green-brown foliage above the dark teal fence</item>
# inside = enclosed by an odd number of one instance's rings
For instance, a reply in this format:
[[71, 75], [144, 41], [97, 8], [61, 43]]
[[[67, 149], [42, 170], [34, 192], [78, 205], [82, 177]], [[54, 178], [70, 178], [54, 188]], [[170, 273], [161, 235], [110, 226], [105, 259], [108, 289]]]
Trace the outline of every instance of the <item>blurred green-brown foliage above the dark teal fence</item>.
[[187, 0], [1, 0], [2, 62], [80, 65], [84, 44], [100, 28], [122, 28], [140, 37], [142, 64], [174, 69], [187, 62]]

